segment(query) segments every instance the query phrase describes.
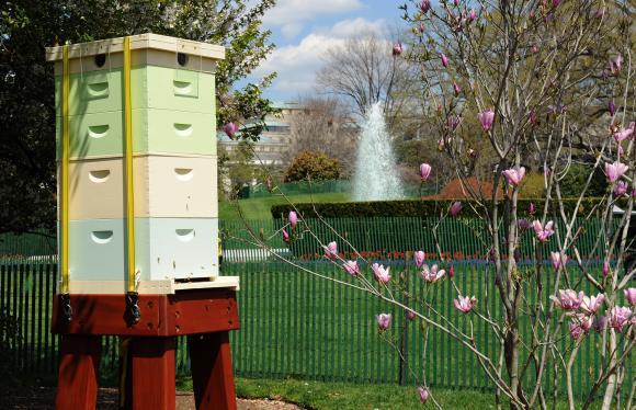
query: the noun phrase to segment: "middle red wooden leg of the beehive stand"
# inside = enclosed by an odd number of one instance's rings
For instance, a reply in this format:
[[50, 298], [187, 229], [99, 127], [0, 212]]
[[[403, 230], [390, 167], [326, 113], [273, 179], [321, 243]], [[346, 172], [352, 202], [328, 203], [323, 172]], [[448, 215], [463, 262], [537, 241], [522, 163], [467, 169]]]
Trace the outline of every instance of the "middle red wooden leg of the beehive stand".
[[174, 410], [174, 338], [133, 338], [129, 349], [133, 410]]

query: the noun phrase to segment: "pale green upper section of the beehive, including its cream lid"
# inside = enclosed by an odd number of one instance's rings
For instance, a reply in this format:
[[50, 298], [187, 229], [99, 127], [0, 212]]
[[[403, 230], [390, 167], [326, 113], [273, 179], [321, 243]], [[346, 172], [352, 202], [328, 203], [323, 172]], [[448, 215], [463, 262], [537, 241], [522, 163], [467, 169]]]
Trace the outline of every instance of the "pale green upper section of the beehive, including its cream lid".
[[[216, 61], [225, 49], [156, 34], [130, 37], [133, 150], [138, 153], [216, 156]], [[55, 62], [56, 138], [60, 158], [61, 47]], [[72, 159], [122, 156], [123, 38], [70, 46], [69, 123]]]

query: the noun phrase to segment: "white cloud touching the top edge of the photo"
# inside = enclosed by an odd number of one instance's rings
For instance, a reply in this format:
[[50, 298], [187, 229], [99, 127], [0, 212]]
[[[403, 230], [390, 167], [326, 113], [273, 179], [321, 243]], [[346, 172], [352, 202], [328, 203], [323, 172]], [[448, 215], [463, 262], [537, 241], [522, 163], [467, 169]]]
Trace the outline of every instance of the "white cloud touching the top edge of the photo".
[[319, 15], [347, 13], [362, 7], [361, 0], [280, 0], [265, 13], [263, 22], [271, 25], [285, 25]]

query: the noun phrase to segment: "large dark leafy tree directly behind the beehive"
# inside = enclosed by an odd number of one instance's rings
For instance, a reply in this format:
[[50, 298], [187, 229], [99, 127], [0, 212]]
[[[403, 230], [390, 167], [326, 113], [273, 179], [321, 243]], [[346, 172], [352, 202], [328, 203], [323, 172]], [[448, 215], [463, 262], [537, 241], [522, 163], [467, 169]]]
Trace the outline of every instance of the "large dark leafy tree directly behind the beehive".
[[[248, 5], [248, 3], [250, 5]], [[235, 90], [272, 49], [261, 27], [274, 0], [14, 0], [0, 5], [0, 231], [53, 228], [56, 219], [53, 66], [44, 48], [152, 32], [226, 47], [218, 65], [218, 124], [272, 111], [262, 83]], [[214, 138], [214, 133], [211, 135]]]

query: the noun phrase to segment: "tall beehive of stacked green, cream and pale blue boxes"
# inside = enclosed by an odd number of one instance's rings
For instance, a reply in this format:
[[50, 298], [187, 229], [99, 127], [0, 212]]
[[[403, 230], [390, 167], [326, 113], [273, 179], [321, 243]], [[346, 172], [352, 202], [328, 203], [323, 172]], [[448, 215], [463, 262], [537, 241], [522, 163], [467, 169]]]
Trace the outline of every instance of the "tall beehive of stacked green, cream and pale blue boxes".
[[[129, 288], [123, 49], [124, 38], [68, 47], [70, 293]], [[225, 50], [154, 34], [129, 37], [129, 49], [136, 289], [172, 293], [193, 280], [223, 285], [215, 281], [214, 70]], [[47, 49], [47, 60], [55, 61], [59, 171], [63, 47]]]

